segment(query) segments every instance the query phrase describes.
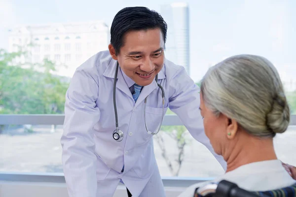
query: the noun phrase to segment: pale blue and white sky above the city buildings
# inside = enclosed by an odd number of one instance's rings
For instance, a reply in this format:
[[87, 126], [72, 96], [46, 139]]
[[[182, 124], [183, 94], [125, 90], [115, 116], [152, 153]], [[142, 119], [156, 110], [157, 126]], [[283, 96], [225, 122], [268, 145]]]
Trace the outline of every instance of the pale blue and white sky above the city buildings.
[[189, 5], [194, 81], [209, 66], [243, 53], [267, 58], [282, 80], [296, 80], [296, 0], [0, 0], [0, 48], [7, 49], [8, 29], [15, 25], [103, 20], [110, 27], [123, 7], [160, 12], [159, 2]]

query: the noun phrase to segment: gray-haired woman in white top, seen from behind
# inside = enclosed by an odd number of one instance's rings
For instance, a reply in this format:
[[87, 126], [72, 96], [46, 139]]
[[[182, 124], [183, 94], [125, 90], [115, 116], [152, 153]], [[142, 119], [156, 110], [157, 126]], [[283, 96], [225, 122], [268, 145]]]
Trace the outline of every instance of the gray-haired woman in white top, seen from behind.
[[[248, 191], [268, 191], [296, 183], [277, 159], [273, 137], [287, 130], [290, 110], [276, 68], [255, 55], [230, 57], [208, 70], [201, 83], [204, 129], [227, 162], [224, 175]], [[180, 197], [192, 197], [189, 187]]]

